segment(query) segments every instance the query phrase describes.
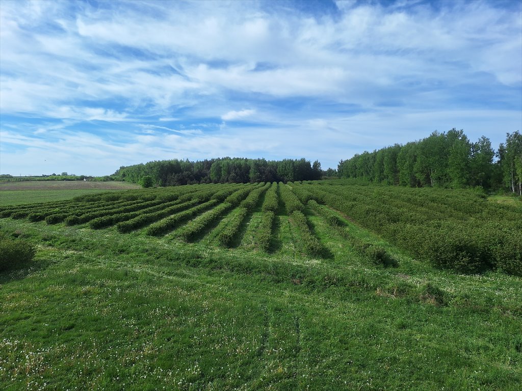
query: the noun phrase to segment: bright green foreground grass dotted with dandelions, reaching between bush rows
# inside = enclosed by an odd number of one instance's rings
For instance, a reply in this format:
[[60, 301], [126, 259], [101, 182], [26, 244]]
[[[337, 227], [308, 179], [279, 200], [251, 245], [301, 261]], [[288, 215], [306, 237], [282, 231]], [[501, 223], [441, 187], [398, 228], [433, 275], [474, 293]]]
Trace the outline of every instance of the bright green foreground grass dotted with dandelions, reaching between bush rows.
[[[306, 255], [281, 201], [259, 250], [271, 197], [261, 189], [253, 207], [241, 204], [230, 247], [218, 237], [239, 209], [188, 242], [176, 233], [189, 223], [150, 236], [0, 219], [4, 233], [38, 246], [30, 265], [0, 275], [0, 388], [519, 389], [519, 277], [438, 270], [330, 210], [342, 223], [334, 229], [308, 206], [329, 255]], [[397, 267], [375, 265], [343, 230]]]

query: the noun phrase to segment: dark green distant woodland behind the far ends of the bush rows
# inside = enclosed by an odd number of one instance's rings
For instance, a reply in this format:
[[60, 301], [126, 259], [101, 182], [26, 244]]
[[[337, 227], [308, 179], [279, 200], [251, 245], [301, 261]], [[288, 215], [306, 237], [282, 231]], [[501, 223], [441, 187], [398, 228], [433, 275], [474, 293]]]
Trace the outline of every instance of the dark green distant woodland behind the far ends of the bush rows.
[[321, 179], [321, 163], [301, 159], [270, 161], [224, 157], [203, 161], [162, 160], [120, 167], [112, 177], [140, 183], [150, 177], [157, 186], [206, 183], [293, 182]]

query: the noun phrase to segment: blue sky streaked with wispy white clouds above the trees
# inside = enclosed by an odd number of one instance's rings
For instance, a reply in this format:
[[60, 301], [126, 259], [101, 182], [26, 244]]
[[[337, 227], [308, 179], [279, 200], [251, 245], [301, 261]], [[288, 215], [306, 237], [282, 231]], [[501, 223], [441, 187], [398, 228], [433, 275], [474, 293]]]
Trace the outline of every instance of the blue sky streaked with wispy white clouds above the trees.
[[0, 173], [522, 130], [522, 2], [0, 2]]

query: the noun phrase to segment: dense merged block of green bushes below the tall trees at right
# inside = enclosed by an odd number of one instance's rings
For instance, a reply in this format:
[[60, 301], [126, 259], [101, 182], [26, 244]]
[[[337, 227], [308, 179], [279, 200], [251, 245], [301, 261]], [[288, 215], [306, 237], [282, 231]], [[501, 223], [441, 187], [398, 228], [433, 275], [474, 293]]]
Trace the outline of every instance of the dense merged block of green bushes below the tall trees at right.
[[[354, 187], [345, 186], [345, 196], [337, 186], [310, 186], [305, 188], [319, 196], [321, 202], [350, 216], [358, 224], [383, 235], [388, 240], [410, 251], [417, 258], [434, 265], [459, 272], [480, 272], [497, 268], [522, 275], [522, 223], [517, 209], [506, 208], [469, 196], [482, 212], [453, 218], [426, 211], [415, 204], [388, 201], [374, 187], [357, 187], [363, 194], [354, 194]], [[414, 189], [410, 189], [414, 190]], [[394, 192], [394, 188], [389, 188]], [[404, 190], [401, 191], [404, 193]], [[465, 193], [457, 193], [465, 198]], [[464, 194], [464, 195], [463, 195]], [[360, 197], [364, 197], [361, 200]], [[357, 200], [357, 201], [354, 201]], [[500, 206], [500, 207], [499, 207]], [[498, 211], [503, 220], [492, 217]]]

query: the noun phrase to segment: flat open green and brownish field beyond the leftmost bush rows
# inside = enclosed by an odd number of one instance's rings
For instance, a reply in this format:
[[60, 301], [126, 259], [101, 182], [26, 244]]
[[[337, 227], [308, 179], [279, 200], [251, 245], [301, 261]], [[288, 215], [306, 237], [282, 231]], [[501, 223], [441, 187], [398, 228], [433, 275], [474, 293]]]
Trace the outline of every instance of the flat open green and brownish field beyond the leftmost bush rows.
[[127, 182], [27, 181], [0, 185], [0, 205], [69, 200], [89, 193], [138, 189]]

